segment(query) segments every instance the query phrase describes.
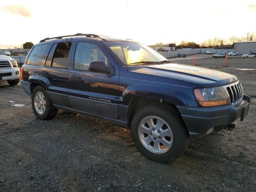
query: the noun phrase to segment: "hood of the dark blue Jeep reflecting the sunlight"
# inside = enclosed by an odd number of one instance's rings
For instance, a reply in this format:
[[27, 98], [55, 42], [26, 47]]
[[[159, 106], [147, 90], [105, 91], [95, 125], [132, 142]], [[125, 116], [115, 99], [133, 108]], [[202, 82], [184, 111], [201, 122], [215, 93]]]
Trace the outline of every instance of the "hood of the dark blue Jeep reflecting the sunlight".
[[186, 80], [198, 84], [228, 84], [237, 80], [236, 76], [231, 74], [183, 64], [140, 65], [129, 68], [133, 72]]

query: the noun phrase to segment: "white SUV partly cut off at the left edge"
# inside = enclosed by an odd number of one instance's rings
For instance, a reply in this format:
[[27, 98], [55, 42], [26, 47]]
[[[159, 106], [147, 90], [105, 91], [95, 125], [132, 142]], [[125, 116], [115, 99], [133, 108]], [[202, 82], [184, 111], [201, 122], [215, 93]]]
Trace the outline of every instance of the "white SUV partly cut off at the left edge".
[[18, 62], [0, 51], [0, 82], [7, 81], [10, 85], [17, 85], [20, 81]]

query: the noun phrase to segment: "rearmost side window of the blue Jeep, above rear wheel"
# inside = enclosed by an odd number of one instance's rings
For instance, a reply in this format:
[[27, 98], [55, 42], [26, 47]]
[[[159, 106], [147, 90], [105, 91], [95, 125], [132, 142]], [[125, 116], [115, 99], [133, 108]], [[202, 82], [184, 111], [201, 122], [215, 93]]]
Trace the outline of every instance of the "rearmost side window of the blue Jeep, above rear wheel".
[[41, 65], [42, 59], [44, 57], [44, 53], [48, 49], [49, 44], [43, 44], [35, 46], [30, 55], [28, 56], [28, 60], [26, 62], [27, 65]]

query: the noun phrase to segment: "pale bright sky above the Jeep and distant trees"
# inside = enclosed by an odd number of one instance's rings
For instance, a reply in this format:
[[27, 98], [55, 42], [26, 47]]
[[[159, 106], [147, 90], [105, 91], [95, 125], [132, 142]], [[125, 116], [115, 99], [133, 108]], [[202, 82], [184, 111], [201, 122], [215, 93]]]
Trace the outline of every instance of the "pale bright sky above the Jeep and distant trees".
[[144, 44], [256, 34], [255, 0], [8, 0], [0, 4], [0, 48], [93, 33]]

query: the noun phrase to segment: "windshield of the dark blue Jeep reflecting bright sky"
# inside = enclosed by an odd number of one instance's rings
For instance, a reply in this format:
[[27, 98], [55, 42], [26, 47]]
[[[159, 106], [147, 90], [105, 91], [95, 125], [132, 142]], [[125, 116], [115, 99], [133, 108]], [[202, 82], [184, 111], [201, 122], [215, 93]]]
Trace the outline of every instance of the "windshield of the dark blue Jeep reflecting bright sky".
[[106, 41], [103, 43], [108, 46], [125, 65], [141, 64], [143, 62], [162, 62], [166, 60], [162, 55], [144, 44], [126, 41]]

